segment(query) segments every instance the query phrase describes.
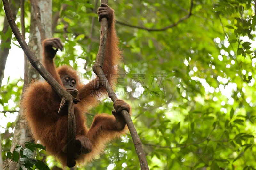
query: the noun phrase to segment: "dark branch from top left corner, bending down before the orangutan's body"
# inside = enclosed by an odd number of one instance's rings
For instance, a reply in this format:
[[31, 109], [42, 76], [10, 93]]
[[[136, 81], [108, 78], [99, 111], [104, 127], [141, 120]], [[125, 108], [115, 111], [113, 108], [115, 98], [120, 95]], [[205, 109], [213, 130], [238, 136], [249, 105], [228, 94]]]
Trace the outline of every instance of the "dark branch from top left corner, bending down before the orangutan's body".
[[12, 16], [12, 11], [8, 0], [3, 0], [4, 10], [6, 17], [8, 19], [9, 25], [12, 28], [12, 32], [15, 35], [17, 41], [19, 42], [21, 48], [24, 53], [27, 55], [29, 62], [32, 66], [39, 72], [39, 74], [52, 86], [53, 90], [59, 95], [61, 98], [60, 109], [63, 108], [64, 105], [68, 106], [68, 159], [67, 166], [73, 167], [76, 164], [75, 161], [75, 116], [74, 116], [74, 103], [76, 104], [79, 100], [73, 98], [71, 94], [65, 91], [61, 85], [52, 77], [52, 75], [44, 68], [44, 66], [39, 62], [36, 56], [31, 52], [25, 39], [22, 37], [15, 20]]

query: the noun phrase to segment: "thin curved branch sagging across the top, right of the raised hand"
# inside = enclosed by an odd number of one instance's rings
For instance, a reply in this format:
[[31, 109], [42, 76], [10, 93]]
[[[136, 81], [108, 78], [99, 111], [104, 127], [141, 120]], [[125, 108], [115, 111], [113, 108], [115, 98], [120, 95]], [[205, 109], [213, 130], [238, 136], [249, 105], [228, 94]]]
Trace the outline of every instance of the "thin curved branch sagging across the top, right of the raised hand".
[[143, 26], [134, 26], [134, 25], [131, 25], [131, 24], [127, 24], [127, 23], [124, 23], [124, 22], [121, 22], [121, 21], [116, 21], [116, 23], [118, 24], [121, 24], [121, 25], [124, 25], [124, 26], [129, 26], [129, 27], [132, 27], [132, 28], [138, 28], [138, 29], [143, 29], [143, 30], [147, 30], [147, 31], [165, 31], [169, 28], [172, 28], [174, 26], [177, 26], [180, 22], [188, 19], [191, 15], [192, 15], [192, 7], [193, 7], [193, 0], [191, 0], [191, 3], [190, 3], [190, 9], [189, 9], [189, 12], [188, 14], [183, 17], [183, 18], [180, 18], [179, 21], [169, 25], [169, 26], [165, 26], [163, 28], [146, 28], [146, 27], [143, 27]]

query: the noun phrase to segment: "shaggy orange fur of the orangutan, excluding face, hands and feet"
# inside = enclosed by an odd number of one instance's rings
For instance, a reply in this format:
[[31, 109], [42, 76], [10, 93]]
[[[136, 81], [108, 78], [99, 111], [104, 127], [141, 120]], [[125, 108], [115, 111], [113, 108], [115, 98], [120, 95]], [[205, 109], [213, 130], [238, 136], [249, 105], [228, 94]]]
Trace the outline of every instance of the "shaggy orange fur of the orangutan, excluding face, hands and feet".
[[[103, 71], [110, 83], [113, 81], [110, 75], [117, 74], [116, 65], [120, 59], [114, 18], [112, 19], [112, 24], [108, 28], [108, 40], [103, 65]], [[77, 163], [85, 164], [90, 162], [95, 156], [104, 152], [107, 142], [124, 134], [126, 128], [121, 131], [117, 130], [115, 128], [116, 119], [109, 114], [96, 115], [90, 129], [87, 128], [84, 113], [97, 105], [98, 98], [97, 95], [91, 95], [91, 92], [104, 92], [102, 87], [92, 85], [96, 85], [98, 79], [96, 78], [86, 85], [81, 84], [75, 70], [69, 66], [61, 66], [56, 69], [54, 62], [47, 58], [45, 51], [43, 52], [43, 64], [62, 86], [62, 76], [69, 75], [76, 79], [76, 88], [79, 91], [77, 98], [81, 100], [74, 105], [76, 137], [86, 136], [92, 143], [92, 151], [87, 154], [81, 154]], [[65, 165], [67, 154], [62, 152], [62, 149], [67, 145], [67, 109], [64, 108], [62, 113], [58, 113], [60, 101], [59, 96], [47, 82], [33, 82], [24, 93], [22, 106], [34, 139], [39, 140], [41, 144], [46, 146], [47, 152], [57, 157]]]

